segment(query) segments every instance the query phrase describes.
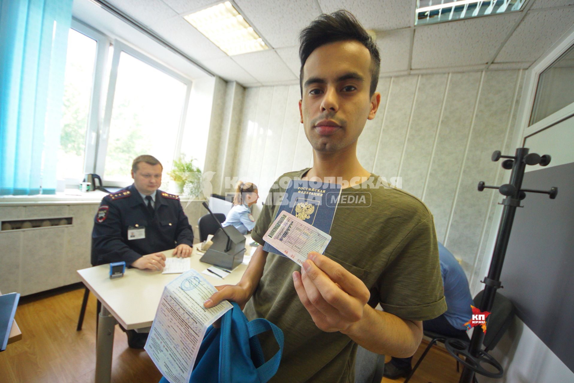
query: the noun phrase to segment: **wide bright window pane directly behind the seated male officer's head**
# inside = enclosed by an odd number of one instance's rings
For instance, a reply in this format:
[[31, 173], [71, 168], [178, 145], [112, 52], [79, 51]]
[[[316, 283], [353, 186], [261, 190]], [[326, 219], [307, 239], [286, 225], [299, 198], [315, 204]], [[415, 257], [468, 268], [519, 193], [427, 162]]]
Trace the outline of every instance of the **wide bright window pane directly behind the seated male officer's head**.
[[185, 89], [181, 81], [121, 53], [104, 167], [107, 181], [131, 182], [133, 159], [150, 154], [164, 166], [162, 181], [166, 185]]

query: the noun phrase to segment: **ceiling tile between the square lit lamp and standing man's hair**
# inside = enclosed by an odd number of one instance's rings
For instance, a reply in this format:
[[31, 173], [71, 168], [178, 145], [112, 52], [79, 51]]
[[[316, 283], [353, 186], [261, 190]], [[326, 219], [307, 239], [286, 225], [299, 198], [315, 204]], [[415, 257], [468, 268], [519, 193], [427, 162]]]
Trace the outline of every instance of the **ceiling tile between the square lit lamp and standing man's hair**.
[[277, 81], [296, 80], [291, 70], [273, 50], [231, 56], [243, 69], [263, 85]]

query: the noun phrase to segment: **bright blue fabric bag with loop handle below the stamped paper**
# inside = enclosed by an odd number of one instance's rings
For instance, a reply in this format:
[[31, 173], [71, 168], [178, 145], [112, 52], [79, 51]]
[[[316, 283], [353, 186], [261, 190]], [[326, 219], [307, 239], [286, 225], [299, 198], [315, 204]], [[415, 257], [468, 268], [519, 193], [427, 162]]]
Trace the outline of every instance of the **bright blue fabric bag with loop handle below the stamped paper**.
[[[265, 383], [272, 378], [283, 353], [283, 331], [267, 319], [248, 322], [235, 302], [222, 316], [221, 327], [210, 326], [199, 347], [189, 383]], [[273, 331], [279, 350], [265, 362], [258, 334]], [[160, 383], [169, 383], [164, 377]]]

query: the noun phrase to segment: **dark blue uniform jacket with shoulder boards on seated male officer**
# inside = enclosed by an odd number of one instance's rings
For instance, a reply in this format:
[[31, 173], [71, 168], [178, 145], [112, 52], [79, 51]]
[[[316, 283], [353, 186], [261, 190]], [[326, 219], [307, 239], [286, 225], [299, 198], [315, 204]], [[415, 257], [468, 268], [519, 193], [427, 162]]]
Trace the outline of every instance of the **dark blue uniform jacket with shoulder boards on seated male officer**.
[[[145, 227], [144, 239], [128, 240], [129, 229]], [[179, 197], [157, 190], [154, 214], [134, 185], [102, 199], [92, 231], [92, 264], [125, 261], [142, 255], [193, 245], [193, 231]]]

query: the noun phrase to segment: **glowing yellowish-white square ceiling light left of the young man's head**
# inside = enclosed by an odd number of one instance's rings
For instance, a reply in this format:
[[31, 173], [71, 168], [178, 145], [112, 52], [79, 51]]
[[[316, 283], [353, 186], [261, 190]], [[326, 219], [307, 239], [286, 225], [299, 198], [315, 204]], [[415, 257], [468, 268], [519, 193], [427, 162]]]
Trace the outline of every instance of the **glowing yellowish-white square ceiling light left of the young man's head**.
[[229, 56], [269, 49], [229, 1], [184, 18]]

